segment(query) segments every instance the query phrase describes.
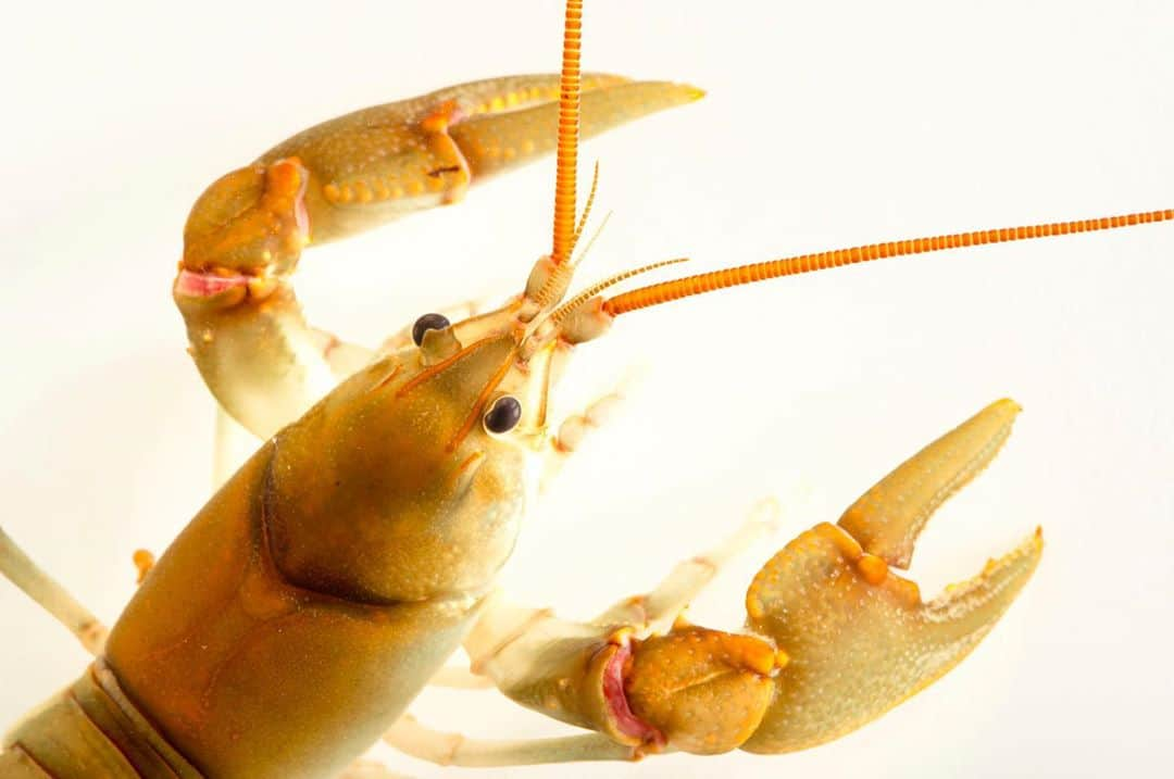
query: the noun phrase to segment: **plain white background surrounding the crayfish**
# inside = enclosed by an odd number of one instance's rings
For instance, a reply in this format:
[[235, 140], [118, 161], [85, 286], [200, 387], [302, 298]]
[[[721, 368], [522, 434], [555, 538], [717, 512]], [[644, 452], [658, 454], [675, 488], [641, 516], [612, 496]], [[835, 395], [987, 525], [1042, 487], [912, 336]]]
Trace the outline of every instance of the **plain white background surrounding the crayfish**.
[[[448, 83], [554, 69], [561, 4], [21, 4], [0, 47], [0, 494], [5, 528], [101, 616], [209, 493], [211, 404], [169, 286], [200, 191], [319, 120]], [[620, 2], [585, 65], [709, 89], [585, 147], [615, 216], [595, 278], [1174, 205], [1174, 8], [1161, 0]], [[552, 168], [313, 250], [311, 317], [377, 341], [515, 291], [547, 248]], [[926, 594], [1041, 523], [1044, 562], [962, 666], [843, 740], [763, 758], [517, 777], [1128, 775], [1168, 766], [1174, 680], [1174, 225], [937, 255], [633, 314], [564, 395], [647, 366], [627, 412], [539, 507], [517, 597], [582, 615], [653, 584], [758, 497], [784, 530], [696, 604], [735, 628], [757, 565], [835, 520], [984, 404], [1024, 404], [999, 461], [920, 544]], [[801, 499], [805, 494], [807, 497]], [[194, 583], [198, 585], [198, 583]], [[0, 585], [0, 722], [86, 657]], [[883, 673], [883, 669], [877, 669]], [[430, 723], [564, 732], [492, 693]], [[440, 770], [392, 756], [416, 775]], [[457, 770], [445, 775], [461, 774]]]

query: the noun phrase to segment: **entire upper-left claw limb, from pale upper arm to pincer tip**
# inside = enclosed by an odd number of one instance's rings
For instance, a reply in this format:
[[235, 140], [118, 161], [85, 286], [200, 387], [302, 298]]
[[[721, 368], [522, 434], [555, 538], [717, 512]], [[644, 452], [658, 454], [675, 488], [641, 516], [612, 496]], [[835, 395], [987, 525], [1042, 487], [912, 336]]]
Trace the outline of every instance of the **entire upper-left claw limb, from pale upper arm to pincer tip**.
[[[583, 135], [703, 94], [606, 74], [582, 83]], [[214, 182], [184, 226], [173, 294], [223, 408], [268, 438], [360, 367], [366, 350], [302, 313], [289, 280], [302, 249], [453, 203], [471, 183], [547, 154], [558, 89], [558, 75], [510, 76], [366, 108]]]

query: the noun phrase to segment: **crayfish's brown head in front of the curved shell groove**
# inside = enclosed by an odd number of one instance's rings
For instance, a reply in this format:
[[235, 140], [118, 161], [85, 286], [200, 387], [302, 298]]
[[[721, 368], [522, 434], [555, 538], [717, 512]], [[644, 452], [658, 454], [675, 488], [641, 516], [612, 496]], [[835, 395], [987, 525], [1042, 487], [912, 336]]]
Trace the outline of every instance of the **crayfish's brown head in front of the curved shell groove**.
[[427, 328], [275, 438], [266, 526], [286, 578], [373, 603], [491, 587], [535, 483], [533, 365], [520, 333], [459, 332]]

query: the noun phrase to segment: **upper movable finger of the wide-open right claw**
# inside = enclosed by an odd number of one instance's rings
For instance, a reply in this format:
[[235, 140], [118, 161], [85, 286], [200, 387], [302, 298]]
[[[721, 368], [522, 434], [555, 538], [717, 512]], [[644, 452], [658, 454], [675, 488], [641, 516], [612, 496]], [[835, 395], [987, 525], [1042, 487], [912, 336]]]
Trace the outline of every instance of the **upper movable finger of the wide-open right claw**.
[[1020, 406], [1004, 398], [933, 441], [882, 479], [839, 517], [839, 527], [890, 565], [909, 568], [930, 516], [994, 459]]

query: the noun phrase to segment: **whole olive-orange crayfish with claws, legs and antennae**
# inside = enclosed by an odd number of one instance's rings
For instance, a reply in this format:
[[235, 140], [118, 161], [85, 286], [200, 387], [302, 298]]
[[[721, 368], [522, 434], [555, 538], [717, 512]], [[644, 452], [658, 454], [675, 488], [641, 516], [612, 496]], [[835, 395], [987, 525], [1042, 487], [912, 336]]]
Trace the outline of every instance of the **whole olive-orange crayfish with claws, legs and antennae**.
[[[1020, 594], [1040, 560], [1038, 529], [938, 598], [896, 573], [930, 515], [1008, 438], [1019, 407], [1006, 399], [770, 557], [747, 591], [743, 631], [702, 626], [684, 609], [765, 533], [765, 509], [592, 619], [497, 590], [526, 507], [608, 415], [610, 397], [554, 413], [572, 357], [621, 338], [629, 314], [782, 276], [1174, 219], [1151, 210], [871, 243], [618, 291], [680, 271], [681, 259], [660, 259], [576, 286], [596, 195], [593, 183], [580, 211], [580, 134], [703, 95], [580, 74], [580, 6], [567, 2], [560, 76], [471, 82], [348, 114], [196, 201], [173, 297], [218, 406], [223, 485], [157, 562], [140, 557], [140, 589], [108, 632], [0, 538], [4, 571], [95, 656], [6, 737], [0, 775], [359, 775], [375, 771], [355, 761], [379, 739], [470, 766], [792, 752], [938, 679]], [[512, 297], [445, 300], [375, 348], [309, 324], [294, 289], [304, 250], [457, 203], [549, 151], [552, 246]], [[686, 388], [700, 411], [727, 391], [736, 402], [729, 366], [704, 367]], [[234, 442], [249, 436], [259, 448], [237, 468]], [[445, 666], [459, 648], [467, 671]], [[440, 733], [409, 713], [430, 682], [492, 685], [592, 732]]]

